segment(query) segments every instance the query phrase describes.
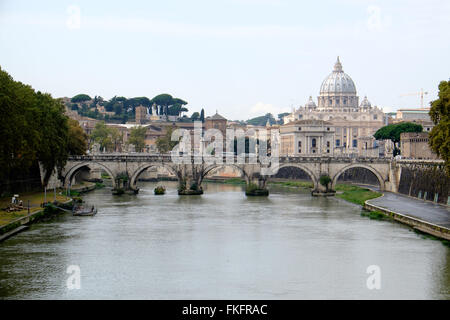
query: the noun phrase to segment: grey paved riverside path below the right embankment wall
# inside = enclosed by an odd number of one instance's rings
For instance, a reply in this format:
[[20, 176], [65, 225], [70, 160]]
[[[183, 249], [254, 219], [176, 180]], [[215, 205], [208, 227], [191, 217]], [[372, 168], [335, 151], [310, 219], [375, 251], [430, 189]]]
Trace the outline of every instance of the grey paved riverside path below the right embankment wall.
[[391, 192], [368, 203], [450, 229], [449, 207]]

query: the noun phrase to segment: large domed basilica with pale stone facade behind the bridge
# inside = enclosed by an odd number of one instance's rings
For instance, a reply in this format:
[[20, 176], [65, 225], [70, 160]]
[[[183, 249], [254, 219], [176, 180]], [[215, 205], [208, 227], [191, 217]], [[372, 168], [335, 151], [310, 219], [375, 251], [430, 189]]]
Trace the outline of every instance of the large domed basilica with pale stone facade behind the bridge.
[[[284, 123], [326, 121], [334, 128], [335, 139], [331, 148], [336, 148], [338, 154], [357, 155], [362, 150], [376, 147], [373, 134], [385, 125], [383, 110], [372, 106], [367, 97], [359, 103], [355, 83], [343, 71], [339, 57], [333, 71], [322, 82], [317, 102], [309, 97], [305, 106], [284, 117]], [[361, 143], [364, 143], [363, 146]]]

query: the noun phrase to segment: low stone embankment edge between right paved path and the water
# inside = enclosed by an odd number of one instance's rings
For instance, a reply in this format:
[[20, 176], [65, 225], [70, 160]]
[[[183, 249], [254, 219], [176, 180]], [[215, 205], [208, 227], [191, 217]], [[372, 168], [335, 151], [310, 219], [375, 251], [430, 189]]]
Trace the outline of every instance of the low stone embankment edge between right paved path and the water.
[[367, 200], [364, 203], [364, 209], [369, 210], [369, 211], [381, 212], [385, 216], [390, 217], [390, 218], [394, 219], [395, 221], [398, 221], [405, 225], [408, 225], [415, 230], [419, 230], [421, 232], [430, 234], [437, 238], [441, 238], [441, 239], [450, 241], [450, 229], [448, 229], [448, 228], [445, 228], [443, 226], [439, 226], [439, 225], [436, 225], [431, 222], [424, 221], [424, 220], [421, 220], [421, 219], [418, 219], [415, 217], [411, 217], [411, 216], [408, 216], [405, 214], [401, 214], [401, 213], [395, 212], [393, 210], [382, 208], [380, 206], [371, 204], [369, 202], [370, 202], [370, 200]]

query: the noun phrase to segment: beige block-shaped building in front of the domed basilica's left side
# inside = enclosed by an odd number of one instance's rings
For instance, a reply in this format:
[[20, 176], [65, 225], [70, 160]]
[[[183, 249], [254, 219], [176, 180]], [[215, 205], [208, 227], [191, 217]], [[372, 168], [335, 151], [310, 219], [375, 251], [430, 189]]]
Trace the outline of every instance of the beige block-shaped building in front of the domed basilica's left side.
[[291, 121], [280, 127], [280, 139], [282, 156], [332, 156], [334, 153], [334, 127], [327, 121]]

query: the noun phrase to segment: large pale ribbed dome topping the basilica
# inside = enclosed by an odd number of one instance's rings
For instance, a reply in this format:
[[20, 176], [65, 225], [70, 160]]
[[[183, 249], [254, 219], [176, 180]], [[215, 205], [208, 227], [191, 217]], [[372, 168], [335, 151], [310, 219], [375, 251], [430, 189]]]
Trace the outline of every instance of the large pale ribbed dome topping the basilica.
[[334, 65], [333, 72], [322, 82], [320, 94], [356, 94], [355, 83], [352, 78], [342, 71], [339, 57]]

